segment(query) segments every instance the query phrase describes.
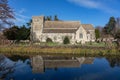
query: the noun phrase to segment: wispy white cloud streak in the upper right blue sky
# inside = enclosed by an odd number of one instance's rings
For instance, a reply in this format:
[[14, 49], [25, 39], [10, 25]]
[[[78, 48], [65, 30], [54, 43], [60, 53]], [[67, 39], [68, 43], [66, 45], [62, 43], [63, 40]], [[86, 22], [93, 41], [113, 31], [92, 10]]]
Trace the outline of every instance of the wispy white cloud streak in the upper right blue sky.
[[68, 0], [71, 3], [77, 4], [81, 7], [98, 9], [107, 13], [116, 13], [117, 11], [107, 5], [109, 1], [106, 0]]

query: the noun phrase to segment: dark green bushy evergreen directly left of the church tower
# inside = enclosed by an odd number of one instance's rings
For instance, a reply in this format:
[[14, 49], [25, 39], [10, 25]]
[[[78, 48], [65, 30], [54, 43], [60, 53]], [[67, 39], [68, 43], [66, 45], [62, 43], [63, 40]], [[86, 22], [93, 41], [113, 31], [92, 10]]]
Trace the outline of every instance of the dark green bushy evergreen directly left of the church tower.
[[25, 25], [21, 27], [13, 26], [3, 30], [3, 34], [8, 40], [28, 40], [30, 38], [30, 28], [26, 28]]

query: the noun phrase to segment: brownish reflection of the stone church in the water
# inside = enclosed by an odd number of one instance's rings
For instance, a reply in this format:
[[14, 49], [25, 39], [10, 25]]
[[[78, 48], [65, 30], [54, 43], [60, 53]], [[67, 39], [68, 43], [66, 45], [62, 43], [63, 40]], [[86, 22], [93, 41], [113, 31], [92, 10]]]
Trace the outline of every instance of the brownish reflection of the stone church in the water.
[[40, 55], [31, 58], [33, 73], [43, 73], [45, 69], [57, 68], [77, 68], [82, 64], [92, 64], [94, 57], [63, 57], [63, 56], [45, 56]]

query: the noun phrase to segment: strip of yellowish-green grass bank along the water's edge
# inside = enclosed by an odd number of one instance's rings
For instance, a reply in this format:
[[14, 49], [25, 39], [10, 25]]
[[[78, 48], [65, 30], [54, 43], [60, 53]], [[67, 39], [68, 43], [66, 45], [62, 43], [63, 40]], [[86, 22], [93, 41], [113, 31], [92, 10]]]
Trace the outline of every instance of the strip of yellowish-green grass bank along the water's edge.
[[106, 56], [119, 55], [120, 50], [104, 47], [79, 47], [79, 46], [0, 46], [0, 53], [5, 55], [77, 55], [77, 56]]

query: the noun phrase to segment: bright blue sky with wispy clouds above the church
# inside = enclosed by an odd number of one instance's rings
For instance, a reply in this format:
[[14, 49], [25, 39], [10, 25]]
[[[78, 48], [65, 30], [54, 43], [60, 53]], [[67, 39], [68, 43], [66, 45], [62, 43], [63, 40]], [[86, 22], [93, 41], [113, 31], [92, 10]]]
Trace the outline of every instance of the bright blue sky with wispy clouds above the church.
[[15, 24], [23, 25], [32, 16], [54, 16], [60, 20], [104, 26], [111, 16], [120, 17], [120, 0], [9, 0]]

